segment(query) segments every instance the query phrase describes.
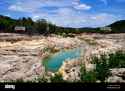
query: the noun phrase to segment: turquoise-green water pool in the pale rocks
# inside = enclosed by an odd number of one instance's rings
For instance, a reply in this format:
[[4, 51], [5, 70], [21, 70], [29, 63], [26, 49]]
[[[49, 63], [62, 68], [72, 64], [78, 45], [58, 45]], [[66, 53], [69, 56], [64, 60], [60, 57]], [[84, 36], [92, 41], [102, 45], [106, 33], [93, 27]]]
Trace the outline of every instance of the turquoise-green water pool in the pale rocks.
[[43, 60], [43, 65], [47, 70], [58, 71], [63, 61], [80, 57], [81, 48], [62, 50]]

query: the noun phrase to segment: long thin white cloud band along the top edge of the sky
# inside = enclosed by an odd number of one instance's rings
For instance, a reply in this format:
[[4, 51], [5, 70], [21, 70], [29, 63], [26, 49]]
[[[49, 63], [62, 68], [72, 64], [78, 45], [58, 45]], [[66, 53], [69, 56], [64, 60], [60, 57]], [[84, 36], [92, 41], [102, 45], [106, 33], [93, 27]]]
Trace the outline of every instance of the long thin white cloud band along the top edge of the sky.
[[11, 11], [36, 12], [41, 11], [44, 7], [70, 7], [78, 10], [89, 10], [91, 6], [84, 3], [80, 4], [79, 0], [20, 0], [8, 7]]

